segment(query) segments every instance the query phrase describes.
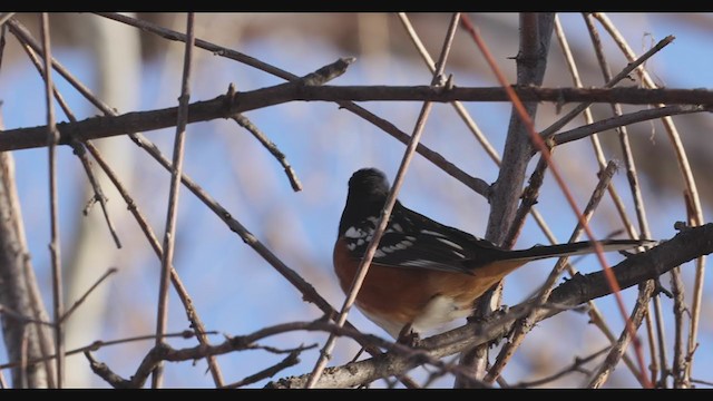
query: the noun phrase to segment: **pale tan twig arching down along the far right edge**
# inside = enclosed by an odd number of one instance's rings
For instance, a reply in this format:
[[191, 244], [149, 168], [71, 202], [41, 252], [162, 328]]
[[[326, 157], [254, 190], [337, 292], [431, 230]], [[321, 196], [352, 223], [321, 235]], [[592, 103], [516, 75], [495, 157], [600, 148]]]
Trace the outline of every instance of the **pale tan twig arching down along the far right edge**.
[[[624, 56], [631, 61], [635, 58], [635, 53], [632, 48], [626, 43], [626, 40], [618, 32], [616, 27], [612, 23], [608, 17], [604, 13], [594, 13], [594, 18], [596, 18], [599, 23], [606, 29], [609, 36], [617, 43]], [[638, 70], [642, 82], [648, 88], [656, 88], [653, 79], [651, 79], [648, 72], [643, 68]], [[662, 101], [662, 104], [665, 101]], [[656, 107], [663, 107], [664, 105], [656, 105]], [[674, 153], [676, 155], [676, 162], [678, 163], [678, 169], [683, 177], [683, 182], [685, 185], [685, 190], [691, 197], [691, 206], [692, 206], [692, 217], [693, 225], [703, 224], [703, 211], [701, 208], [701, 199], [699, 198], [699, 189], [696, 187], [695, 180], [693, 178], [693, 173], [691, 170], [691, 165], [688, 163], [688, 157], [686, 151], [681, 143], [681, 136], [678, 135], [678, 130], [673, 123], [671, 117], [662, 118], [662, 123], [666, 133], [668, 134], [668, 139], [674, 148]], [[699, 322], [701, 319], [701, 304], [703, 299], [703, 281], [705, 276], [705, 258], [701, 257], [696, 261], [696, 272], [695, 272], [695, 282], [693, 285], [693, 304], [691, 306], [691, 324], [688, 327], [688, 349], [687, 352], [693, 358], [693, 351], [696, 348], [696, 336], [699, 333]], [[684, 381], [690, 380], [691, 370], [693, 368], [693, 361], [688, 361], [686, 365]]]

